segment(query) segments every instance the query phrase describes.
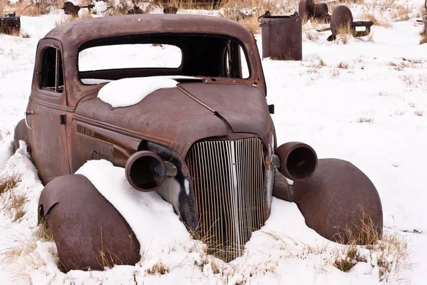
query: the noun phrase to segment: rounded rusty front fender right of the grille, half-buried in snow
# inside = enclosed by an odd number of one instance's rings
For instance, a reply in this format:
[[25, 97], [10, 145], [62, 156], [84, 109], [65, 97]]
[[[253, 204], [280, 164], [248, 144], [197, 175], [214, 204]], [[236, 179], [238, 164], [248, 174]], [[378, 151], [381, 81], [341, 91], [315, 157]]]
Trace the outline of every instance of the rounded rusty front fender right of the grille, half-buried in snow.
[[345, 244], [349, 242], [348, 232], [357, 235], [364, 222], [370, 223], [368, 219], [376, 232], [382, 234], [383, 213], [378, 192], [371, 180], [350, 162], [318, 160], [315, 174], [308, 180], [295, 181], [291, 195], [307, 226], [322, 237]]

